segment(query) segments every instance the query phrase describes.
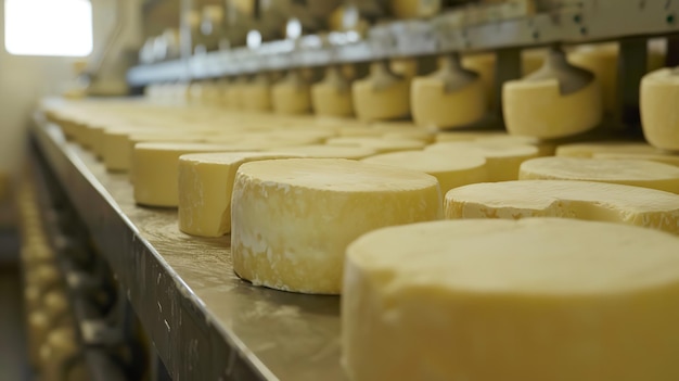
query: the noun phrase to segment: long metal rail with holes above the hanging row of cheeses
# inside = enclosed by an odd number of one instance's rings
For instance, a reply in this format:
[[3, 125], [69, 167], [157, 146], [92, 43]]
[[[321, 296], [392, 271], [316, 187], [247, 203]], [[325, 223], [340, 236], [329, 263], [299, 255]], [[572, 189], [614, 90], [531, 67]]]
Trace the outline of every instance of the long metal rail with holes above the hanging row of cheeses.
[[140, 65], [128, 71], [131, 86], [207, 79], [284, 71], [292, 67], [358, 63], [385, 58], [446, 52], [516, 50], [551, 43], [582, 43], [679, 31], [679, 1], [563, 1], [549, 13], [481, 24], [460, 14], [427, 21], [393, 22], [373, 27], [368, 38], [356, 34], [305, 36], [262, 43], [258, 49], [193, 55], [188, 60]]

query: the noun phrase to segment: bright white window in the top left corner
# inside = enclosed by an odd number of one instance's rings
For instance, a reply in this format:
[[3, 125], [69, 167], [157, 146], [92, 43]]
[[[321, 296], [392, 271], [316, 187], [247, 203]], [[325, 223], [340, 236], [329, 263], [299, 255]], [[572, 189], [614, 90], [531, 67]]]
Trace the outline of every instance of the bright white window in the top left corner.
[[89, 55], [92, 4], [88, 0], [4, 0], [4, 47], [14, 55]]

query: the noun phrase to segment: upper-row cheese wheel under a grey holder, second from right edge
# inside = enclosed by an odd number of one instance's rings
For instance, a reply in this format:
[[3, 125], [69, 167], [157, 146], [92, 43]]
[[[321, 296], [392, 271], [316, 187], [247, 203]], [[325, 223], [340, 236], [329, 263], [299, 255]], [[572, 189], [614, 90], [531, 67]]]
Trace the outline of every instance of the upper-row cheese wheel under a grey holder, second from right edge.
[[569, 94], [561, 94], [556, 79], [511, 80], [502, 87], [507, 130], [540, 139], [577, 135], [602, 118], [599, 84], [592, 81]]

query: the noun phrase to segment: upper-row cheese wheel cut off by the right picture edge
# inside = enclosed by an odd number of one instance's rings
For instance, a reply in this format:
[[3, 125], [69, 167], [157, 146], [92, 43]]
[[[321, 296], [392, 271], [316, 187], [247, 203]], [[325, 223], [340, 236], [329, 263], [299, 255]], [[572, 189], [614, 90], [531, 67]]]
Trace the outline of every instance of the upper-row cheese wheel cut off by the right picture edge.
[[641, 124], [654, 147], [679, 151], [679, 74], [663, 68], [641, 79]]

